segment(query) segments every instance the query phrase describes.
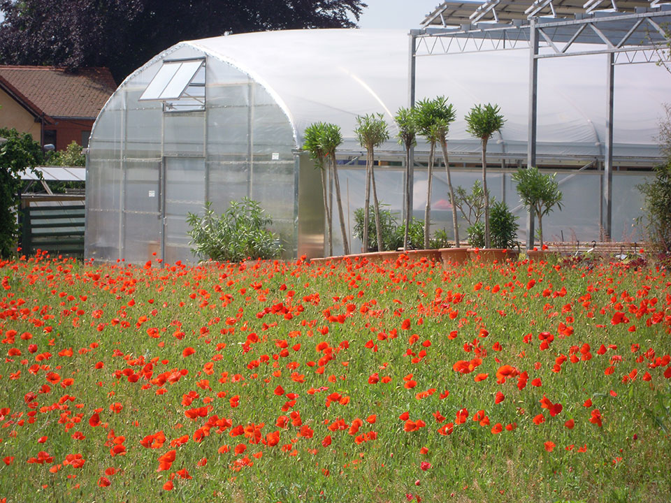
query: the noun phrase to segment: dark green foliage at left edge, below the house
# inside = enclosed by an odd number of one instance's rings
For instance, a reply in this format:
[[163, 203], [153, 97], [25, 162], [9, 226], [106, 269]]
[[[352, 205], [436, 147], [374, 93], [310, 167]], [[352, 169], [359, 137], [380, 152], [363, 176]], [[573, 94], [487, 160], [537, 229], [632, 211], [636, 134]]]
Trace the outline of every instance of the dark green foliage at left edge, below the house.
[[0, 257], [8, 258], [17, 238], [16, 210], [21, 187], [20, 173], [39, 166], [43, 159], [40, 145], [29, 134], [16, 129], [0, 129]]

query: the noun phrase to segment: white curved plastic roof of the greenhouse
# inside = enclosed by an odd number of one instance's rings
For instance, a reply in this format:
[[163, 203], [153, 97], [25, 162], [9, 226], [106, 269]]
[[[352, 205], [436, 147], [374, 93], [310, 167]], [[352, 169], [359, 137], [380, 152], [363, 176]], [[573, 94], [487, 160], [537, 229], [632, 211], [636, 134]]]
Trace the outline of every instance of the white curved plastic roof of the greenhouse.
[[[392, 117], [408, 103], [408, 36], [405, 30], [325, 29], [270, 31], [180, 43], [159, 55], [195, 48], [263, 85], [291, 121], [296, 148], [312, 122], [334, 122], [343, 150], [360, 151], [352, 130], [356, 115]], [[605, 138], [605, 57], [544, 60], [539, 65], [538, 154], [602, 156]], [[448, 96], [458, 119], [451, 152], [478, 152], [463, 116], [476, 103], [498, 103], [507, 122], [496, 145], [526, 155], [528, 50], [419, 57], [417, 99]], [[671, 78], [653, 64], [616, 67], [614, 157], [657, 156], [661, 103]], [[497, 146], [498, 145], [498, 146]], [[396, 150], [394, 141], [382, 150]], [[420, 141], [419, 150], [424, 150]]]

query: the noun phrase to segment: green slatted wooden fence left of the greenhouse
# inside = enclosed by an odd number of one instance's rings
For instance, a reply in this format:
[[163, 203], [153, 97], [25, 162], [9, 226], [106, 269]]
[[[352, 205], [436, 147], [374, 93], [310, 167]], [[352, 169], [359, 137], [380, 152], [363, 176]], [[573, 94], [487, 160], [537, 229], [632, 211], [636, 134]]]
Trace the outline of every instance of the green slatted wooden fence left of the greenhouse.
[[24, 195], [19, 224], [22, 254], [38, 249], [51, 256], [84, 257], [85, 198], [80, 195]]

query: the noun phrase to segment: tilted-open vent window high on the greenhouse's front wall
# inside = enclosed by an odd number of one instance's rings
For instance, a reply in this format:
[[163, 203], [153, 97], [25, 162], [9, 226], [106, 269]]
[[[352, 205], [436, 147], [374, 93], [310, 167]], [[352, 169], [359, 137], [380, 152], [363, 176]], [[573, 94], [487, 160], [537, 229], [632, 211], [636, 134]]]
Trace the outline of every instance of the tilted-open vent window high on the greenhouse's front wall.
[[140, 96], [163, 101], [166, 112], [205, 109], [205, 59], [166, 59]]

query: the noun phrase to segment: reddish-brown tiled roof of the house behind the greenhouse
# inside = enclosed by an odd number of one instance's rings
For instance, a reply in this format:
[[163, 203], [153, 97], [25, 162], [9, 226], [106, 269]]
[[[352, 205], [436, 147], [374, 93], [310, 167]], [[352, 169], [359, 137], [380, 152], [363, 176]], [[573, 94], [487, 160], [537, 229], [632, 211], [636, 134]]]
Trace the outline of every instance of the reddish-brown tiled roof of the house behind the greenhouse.
[[54, 66], [0, 66], [0, 86], [38, 115], [80, 119], [97, 117], [117, 88], [108, 68]]

